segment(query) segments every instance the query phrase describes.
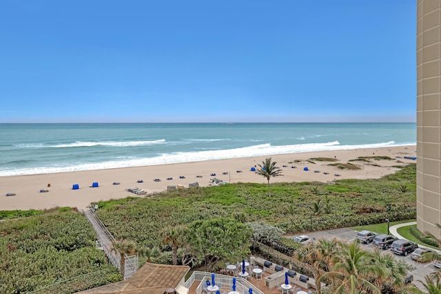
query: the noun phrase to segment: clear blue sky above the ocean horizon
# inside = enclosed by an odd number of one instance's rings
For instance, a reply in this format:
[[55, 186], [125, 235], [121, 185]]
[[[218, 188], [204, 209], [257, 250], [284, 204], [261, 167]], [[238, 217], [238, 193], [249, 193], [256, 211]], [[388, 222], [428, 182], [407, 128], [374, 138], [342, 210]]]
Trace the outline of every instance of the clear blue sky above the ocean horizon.
[[0, 44], [0, 123], [416, 121], [415, 0], [3, 0]]

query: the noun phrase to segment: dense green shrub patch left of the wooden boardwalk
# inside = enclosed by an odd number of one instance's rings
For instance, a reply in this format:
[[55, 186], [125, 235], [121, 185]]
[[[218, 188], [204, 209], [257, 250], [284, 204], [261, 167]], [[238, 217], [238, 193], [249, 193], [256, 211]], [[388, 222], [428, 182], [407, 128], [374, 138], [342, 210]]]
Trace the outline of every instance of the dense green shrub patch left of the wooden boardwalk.
[[0, 293], [75, 293], [121, 280], [95, 240], [70, 208], [0, 222]]

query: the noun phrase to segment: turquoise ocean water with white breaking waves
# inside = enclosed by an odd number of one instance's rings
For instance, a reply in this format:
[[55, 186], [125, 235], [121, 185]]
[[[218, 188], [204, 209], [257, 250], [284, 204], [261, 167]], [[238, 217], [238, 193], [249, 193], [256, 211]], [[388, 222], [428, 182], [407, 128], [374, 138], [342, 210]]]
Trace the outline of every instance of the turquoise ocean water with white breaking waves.
[[416, 123], [0, 124], [0, 176], [416, 144]]

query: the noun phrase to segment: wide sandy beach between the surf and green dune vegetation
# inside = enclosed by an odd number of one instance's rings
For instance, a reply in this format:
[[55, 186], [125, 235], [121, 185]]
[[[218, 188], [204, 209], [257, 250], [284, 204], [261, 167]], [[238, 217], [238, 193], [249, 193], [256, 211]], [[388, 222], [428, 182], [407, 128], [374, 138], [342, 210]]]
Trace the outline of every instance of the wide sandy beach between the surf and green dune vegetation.
[[[359, 165], [360, 170], [338, 169], [328, 166], [332, 162], [316, 161], [316, 164], [312, 164], [305, 161], [309, 158], [324, 157], [336, 158], [338, 162], [346, 163], [361, 156], [389, 156], [394, 160], [352, 162]], [[127, 188], [130, 187], [145, 189], [146, 196], [151, 196], [152, 193], [167, 190], [168, 185], [188, 187], [189, 183], [198, 182], [199, 186], [207, 187], [212, 185], [210, 179], [215, 177], [232, 183], [257, 182], [266, 184], [266, 178], [258, 176], [250, 169], [254, 165], [261, 164], [267, 157], [271, 157], [277, 162], [277, 166], [283, 169], [283, 176], [271, 178], [271, 182], [333, 182], [346, 178], [381, 178], [397, 171], [398, 169], [393, 167], [394, 165], [416, 162], [416, 160], [404, 159], [404, 156], [416, 156], [416, 145], [281, 154], [172, 165], [73, 171], [59, 174], [4, 176], [0, 177], [0, 210], [49, 209], [52, 207], [85, 209], [91, 202], [137, 196], [127, 191]], [[301, 161], [298, 162], [298, 160]], [[296, 168], [292, 168], [294, 166]], [[308, 167], [309, 171], [305, 171], [305, 167]], [[211, 176], [211, 174], [216, 174], [216, 176]], [[185, 178], [180, 178], [181, 176]], [[156, 178], [161, 181], [155, 182]], [[167, 178], [173, 179], [167, 180]], [[143, 180], [143, 182], [137, 182], [138, 180]], [[90, 187], [92, 182], [98, 182], [99, 187]], [[114, 182], [119, 182], [120, 185], [113, 185]], [[74, 184], [79, 185], [79, 189], [72, 189]], [[42, 189], [48, 190], [48, 192], [41, 193]], [[15, 193], [16, 195], [6, 196], [7, 193]]]

